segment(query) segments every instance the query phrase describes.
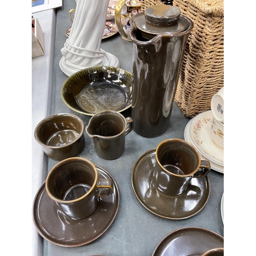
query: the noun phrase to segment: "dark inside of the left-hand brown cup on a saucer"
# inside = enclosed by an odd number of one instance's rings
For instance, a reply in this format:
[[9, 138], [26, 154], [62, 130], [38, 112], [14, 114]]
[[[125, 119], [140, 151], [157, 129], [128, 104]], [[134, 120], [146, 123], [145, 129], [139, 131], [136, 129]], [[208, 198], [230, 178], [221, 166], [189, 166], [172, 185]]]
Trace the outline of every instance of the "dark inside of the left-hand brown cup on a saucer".
[[49, 173], [48, 191], [57, 200], [76, 200], [95, 186], [96, 172], [90, 162], [78, 158], [64, 160]]

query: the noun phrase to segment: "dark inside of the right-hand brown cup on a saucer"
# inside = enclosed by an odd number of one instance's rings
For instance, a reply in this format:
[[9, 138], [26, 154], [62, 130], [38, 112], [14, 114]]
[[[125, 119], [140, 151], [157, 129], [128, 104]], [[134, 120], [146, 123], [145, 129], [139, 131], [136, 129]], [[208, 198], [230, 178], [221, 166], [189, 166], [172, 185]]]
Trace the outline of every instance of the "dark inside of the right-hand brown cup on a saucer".
[[160, 143], [156, 154], [162, 167], [176, 175], [190, 175], [199, 168], [198, 153], [185, 141], [168, 140]]

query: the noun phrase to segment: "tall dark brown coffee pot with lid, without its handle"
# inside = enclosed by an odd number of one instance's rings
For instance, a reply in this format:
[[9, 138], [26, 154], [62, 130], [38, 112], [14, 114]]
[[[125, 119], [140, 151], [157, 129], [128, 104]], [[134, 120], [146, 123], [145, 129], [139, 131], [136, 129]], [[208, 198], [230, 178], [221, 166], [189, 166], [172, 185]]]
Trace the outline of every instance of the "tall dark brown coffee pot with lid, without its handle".
[[185, 46], [194, 25], [177, 7], [156, 5], [134, 15], [131, 26], [134, 131], [157, 137], [169, 126]]

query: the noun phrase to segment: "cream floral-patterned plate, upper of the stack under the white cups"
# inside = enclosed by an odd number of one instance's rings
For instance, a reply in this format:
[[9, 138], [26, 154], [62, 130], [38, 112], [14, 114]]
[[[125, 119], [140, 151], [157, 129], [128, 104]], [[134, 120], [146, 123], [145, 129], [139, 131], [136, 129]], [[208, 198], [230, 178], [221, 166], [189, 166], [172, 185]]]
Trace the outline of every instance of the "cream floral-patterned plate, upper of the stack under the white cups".
[[197, 150], [213, 163], [224, 166], [224, 150], [211, 138], [211, 110], [195, 116], [189, 127], [189, 137]]

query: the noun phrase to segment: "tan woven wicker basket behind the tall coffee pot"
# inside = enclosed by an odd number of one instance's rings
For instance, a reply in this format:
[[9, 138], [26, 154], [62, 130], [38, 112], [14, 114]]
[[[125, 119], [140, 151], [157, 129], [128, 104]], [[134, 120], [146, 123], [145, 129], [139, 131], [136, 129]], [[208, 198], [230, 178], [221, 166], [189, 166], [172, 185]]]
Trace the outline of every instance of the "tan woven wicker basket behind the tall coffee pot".
[[[148, 6], [160, 0], [141, 0]], [[173, 6], [193, 20], [180, 71], [175, 102], [192, 118], [210, 109], [211, 97], [224, 86], [223, 0], [173, 0]]]

